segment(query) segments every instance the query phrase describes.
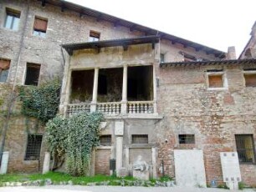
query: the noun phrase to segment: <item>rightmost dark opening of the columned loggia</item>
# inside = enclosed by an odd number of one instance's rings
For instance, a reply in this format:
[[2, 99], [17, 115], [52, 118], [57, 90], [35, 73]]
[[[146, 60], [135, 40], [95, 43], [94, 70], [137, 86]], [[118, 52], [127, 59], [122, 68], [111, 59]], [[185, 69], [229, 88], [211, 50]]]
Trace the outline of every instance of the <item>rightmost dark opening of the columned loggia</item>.
[[153, 67], [128, 67], [128, 101], [153, 100]]

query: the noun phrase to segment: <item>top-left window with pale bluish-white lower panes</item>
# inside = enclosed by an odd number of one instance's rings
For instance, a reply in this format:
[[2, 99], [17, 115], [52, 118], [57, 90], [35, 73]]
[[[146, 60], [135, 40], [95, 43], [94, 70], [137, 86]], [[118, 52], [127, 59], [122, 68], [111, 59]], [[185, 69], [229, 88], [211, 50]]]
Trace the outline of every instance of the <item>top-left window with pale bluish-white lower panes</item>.
[[20, 18], [19, 11], [6, 8], [6, 18], [5, 18], [4, 28], [18, 30], [19, 18]]

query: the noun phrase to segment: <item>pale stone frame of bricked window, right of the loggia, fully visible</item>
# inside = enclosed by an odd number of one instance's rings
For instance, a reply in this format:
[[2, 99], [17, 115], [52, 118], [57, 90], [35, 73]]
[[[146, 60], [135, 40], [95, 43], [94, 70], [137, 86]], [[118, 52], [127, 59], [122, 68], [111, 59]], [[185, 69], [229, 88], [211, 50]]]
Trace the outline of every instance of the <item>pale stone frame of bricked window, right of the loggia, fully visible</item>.
[[[218, 76], [221, 75], [222, 79], [223, 79], [223, 87], [219, 87], [219, 88], [211, 88], [209, 87], [209, 76]], [[207, 83], [207, 90], [227, 90], [228, 89], [228, 78], [227, 75], [225, 73], [225, 71], [210, 71], [210, 72], [206, 72], [206, 83]]]

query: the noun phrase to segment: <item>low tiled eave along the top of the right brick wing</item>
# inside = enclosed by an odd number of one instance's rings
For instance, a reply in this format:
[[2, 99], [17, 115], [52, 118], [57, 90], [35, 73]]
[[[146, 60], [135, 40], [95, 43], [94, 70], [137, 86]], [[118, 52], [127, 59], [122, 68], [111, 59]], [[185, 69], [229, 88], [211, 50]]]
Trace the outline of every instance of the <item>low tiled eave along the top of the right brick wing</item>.
[[187, 67], [187, 66], [197, 66], [197, 65], [228, 65], [228, 64], [256, 64], [256, 58], [220, 60], [220, 61], [192, 61], [192, 62], [160, 63], [160, 68]]

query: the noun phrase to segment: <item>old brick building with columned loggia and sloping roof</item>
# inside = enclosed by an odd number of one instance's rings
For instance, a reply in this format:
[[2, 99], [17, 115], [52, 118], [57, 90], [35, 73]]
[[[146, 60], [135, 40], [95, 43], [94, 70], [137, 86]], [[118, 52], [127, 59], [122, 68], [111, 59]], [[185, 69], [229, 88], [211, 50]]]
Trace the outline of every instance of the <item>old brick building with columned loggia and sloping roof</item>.
[[[256, 184], [253, 55], [236, 59], [233, 48], [223, 53], [61, 1], [3, 0], [0, 17], [2, 135], [12, 90], [59, 76], [60, 114], [105, 114], [92, 174], [110, 174], [110, 159], [117, 174], [132, 174], [141, 155], [151, 177], [175, 177], [175, 150], [194, 149], [203, 153], [207, 183], [221, 183], [220, 152], [238, 151], [243, 182]], [[33, 143], [33, 120], [18, 114], [9, 122], [8, 172], [42, 169], [44, 128]]]

